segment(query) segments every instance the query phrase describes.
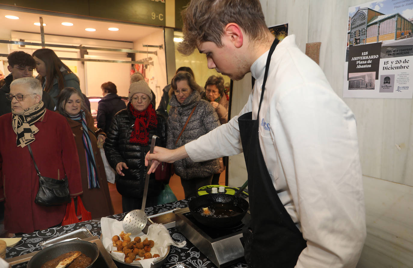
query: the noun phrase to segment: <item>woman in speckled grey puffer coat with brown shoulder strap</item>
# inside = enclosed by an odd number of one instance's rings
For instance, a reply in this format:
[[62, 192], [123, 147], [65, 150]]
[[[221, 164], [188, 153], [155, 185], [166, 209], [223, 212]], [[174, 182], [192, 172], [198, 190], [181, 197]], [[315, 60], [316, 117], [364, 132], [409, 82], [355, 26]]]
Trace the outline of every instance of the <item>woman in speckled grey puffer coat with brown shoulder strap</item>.
[[[179, 72], [172, 78], [171, 86], [173, 93], [169, 102], [168, 149], [176, 149], [220, 126], [214, 107], [206, 100], [201, 100], [199, 92], [202, 88], [195, 83], [191, 74]], [[192, 116], [180, 135], [191, 113]], [[199, 187], [210, 185], [213, 174], [219, 170], [218, 159], [194, 162], [185, 158], [173, 165], [181, 178], [185, 198], [196, 196]]]

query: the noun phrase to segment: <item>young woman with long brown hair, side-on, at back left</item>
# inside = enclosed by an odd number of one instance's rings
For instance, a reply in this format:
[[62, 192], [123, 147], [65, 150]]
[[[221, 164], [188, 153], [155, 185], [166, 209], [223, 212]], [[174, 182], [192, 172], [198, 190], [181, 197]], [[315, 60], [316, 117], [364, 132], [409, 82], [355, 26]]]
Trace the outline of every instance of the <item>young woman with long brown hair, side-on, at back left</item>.
[[37, 79], [40, 80], [44, 91], [57, 103], [57, 95], [65, 87], [75, 88], [84, 98], [80, 90], [79, 78], [64, 64], [56, 53], [49, 48], [40, 48], [33, 52], [36, 61]]

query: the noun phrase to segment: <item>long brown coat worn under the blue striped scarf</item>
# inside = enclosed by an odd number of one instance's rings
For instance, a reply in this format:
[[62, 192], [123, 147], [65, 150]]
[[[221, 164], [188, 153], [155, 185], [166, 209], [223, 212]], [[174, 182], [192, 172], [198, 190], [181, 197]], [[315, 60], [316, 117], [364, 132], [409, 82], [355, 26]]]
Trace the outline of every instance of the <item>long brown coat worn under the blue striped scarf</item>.
[[[85, 147], [83, 145], [83, 127], [80, 121], [74, 121], [67, 118], [69, 126], [74, 134], [76, 147], [78, 149], [79, 162], [82, 176], [83, 194], [81, 195], [85, 209], [92, 213], [92, 218], [100, 218], [114, 214], [112, 201], [109, 195], [109, 187], [107, 185], [106, 173], [104, 171], [104, 164], [100, 156], [99, 148], [97, 148], [97, 135], [105, 135], [102, 130], [93, 125], [93, 117], [89, 112], [86, 112], [86, 124], [89, 128], [90, 142], [92, 143], [93, 153], [95, 154], [97, 177], [100, 188], [89, 189], [88, 186], [88, 171], [86, 167]], [[92, 132], [92, 131], [94, 132]]]

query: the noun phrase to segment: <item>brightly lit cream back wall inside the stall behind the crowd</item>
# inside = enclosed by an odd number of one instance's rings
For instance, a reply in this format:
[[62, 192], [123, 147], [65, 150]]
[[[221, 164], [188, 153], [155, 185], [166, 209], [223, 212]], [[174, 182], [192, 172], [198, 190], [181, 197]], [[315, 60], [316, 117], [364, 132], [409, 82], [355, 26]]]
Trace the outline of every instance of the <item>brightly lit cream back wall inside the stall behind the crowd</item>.
[[[40, 43], [40, 34], [37, 33], [24, 33], [9, 30], [0, 30], [0, 39], [5, 40], [19, 40], [23, 39], [26, 42]], [[109, 40], [97, 40], [89, 38], [76, 38], [67, 36], [52, 36], [45, 35], [45, 43], [48, 44], [64, 44], [64, 45], [79, 45], [84, 46], [97, 46], [97, 47], [108, 47], [108, 48], [121, 48], [121, 49], [132, 49], [133, 43], [131, 42], [119, 42], [119, 41], [109, 41]], [[22, 50], [28, 54], [32, 54], [35, 50], [41, 47], [29, 46], [21, 47], [19, 45], [9, 45], [0, 44], [0, 53], [8, 54], [15, 50]], [[77, 49], [71, 48], [57, 48], [48, 47], [55, 51], [59, 57], [67, 58], [80, 58], [80, 52]], [[97, 51], [89, 50], [89, 55], [85, 55], [86, 58], [96, 58], [96, 59], [116, 59], [116, 60], [131, 60], [126, 58], [125, 52], [109, 52], [109, 51]], [[7, 71], [8, 63], [5, 62], [7, 59], [3, 58], [3, 63], [5, 65], [5, 75], [9, 74]], [[83, 64], [79, 61], [73, 60], [63, 60], [73, 72], [76, 74], [80, 81], [80, 88], [82, 92], [87, 96], [101, 96], [102, 90], [100, 85], [104, 82], [111, 81], [119, 87], [119, 95], [127, 96], [129, 88], [129, 76], [130, 76], [130, 64], [123, 63], [103, 63], [103, 62], [85, 62]], [[89, 66], [89, 69], [85, 68]], [[34, 76], [37, 75], [36, 72], [33, 73]]]

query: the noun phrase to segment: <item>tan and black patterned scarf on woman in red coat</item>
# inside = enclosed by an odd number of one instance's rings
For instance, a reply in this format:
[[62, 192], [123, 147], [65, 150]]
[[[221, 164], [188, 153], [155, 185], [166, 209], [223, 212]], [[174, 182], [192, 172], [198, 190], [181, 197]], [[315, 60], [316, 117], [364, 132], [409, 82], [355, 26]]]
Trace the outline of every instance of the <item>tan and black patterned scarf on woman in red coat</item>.
[[34, 125], [46, 113], [45, 104], [40, 101], [38, 104], [21, 111], [15, 112], [12, 108], [12, 127], [14, 133], [17, 134], [16, 145], [24, 147], [32, 143], [35, 138], [34, 134], [38, 133], [39, 129]]

